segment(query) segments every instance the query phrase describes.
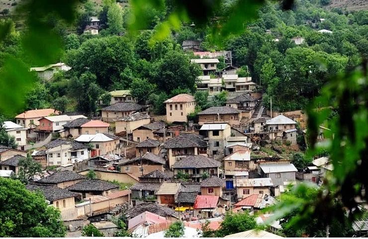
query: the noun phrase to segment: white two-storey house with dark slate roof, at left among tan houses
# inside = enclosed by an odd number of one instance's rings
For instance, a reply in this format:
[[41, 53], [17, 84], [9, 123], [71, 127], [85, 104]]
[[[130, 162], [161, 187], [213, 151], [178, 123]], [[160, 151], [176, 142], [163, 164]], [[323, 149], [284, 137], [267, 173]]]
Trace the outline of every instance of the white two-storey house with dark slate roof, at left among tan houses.
[[47, 165], [73, 164], [88, 159], [88, 147], [74, 140], [55, 139], [45, 145]]

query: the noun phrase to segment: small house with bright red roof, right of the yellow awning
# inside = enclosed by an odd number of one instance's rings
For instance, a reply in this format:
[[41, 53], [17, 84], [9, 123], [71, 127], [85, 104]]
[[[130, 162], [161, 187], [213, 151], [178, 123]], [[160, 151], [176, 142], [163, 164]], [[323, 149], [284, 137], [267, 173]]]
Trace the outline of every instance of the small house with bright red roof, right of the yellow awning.
[[213, 218], [217, 213], [218, 196], [198, 195], [194, 202], [194, 217], [199, 219]]

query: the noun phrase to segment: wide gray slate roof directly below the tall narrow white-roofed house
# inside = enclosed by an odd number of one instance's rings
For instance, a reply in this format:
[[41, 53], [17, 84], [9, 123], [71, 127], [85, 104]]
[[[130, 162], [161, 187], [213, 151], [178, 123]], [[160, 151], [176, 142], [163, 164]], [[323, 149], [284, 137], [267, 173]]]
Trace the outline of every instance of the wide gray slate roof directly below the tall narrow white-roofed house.
[[203, 155], [190, 155], [174, 163], [173, 168], [215, 168], [221, 163]]

